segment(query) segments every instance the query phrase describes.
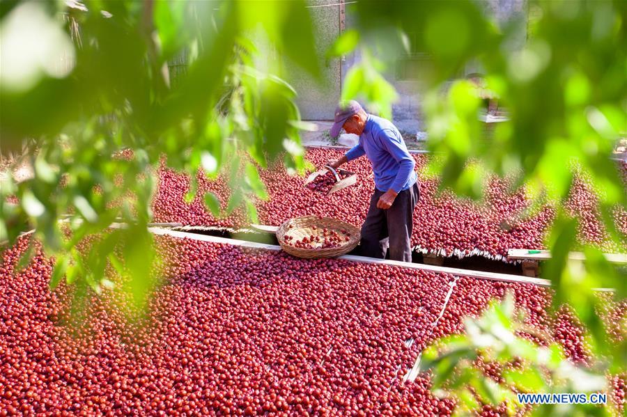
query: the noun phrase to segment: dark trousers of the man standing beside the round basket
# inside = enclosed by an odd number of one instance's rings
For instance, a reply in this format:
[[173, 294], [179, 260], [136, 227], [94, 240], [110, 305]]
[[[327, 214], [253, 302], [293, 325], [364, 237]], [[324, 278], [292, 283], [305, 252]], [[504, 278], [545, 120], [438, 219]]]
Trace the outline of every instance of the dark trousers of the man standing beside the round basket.
[[420, 196], [418, 182], [398, 193], [387, 210], [377, 208], [383, 194], [384, 191], [375, 189], [370, 199], [370, 208], [362, 225], [361, 253], [371, 258], [385, 258], [389, 243], [390, 259], [411, 262], [412, 213]]

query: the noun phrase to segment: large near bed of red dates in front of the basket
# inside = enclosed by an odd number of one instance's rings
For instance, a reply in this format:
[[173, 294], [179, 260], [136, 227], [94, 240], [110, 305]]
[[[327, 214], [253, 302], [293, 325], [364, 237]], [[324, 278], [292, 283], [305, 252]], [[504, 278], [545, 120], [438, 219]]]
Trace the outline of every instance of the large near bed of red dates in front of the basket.
[[[446, 416], [454, 401], [434, 398], [428, 376], [403, 383], [403, 373], [507, 289], [530, 326], [573, 361], [589, 359], [582, 329], [567, 310], [550, 320], [550, 292], [533, 285], [173, 237], [157, 237], [165, 279], [142, 326], [107, 290], [89, 297], [88, 320], [74, 329], [63, 325], [71, 290], [49, 290], [52, 261], [40, 249], [15, 272], [28, 239], [0, 265], [0, 415]], [[624, 337], [627, 306], [607, 306], [613, 337]], [[612, 384], [621, 404], [624, 378]]]

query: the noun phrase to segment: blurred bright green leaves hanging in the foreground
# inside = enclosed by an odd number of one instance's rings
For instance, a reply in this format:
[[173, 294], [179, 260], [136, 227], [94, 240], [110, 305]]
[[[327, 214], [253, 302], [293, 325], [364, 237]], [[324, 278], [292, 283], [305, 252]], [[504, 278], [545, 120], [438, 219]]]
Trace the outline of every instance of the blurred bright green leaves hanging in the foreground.
[[[359, 54], [342, 98], [363, 100], [390, 117], [397, 94], [386, 80], [387, 63], [410, 49], [424, 52], [431, 68], [421, 80], [424, 111], [431, 150], [442, 153], [433, 166], [442, 187], [479, 196], [486, 171], [516, 172], [538, 204], [563, 202], [576, 164], [600, 191], [607, 233], [619, 240], [612, 210], [624, 210], [626, 195], [609, 157], [627, 125], [627, 2], [530, 0], [527, 6], [497, 22], [485, 2], [357, 1], [346, 6], [355, 25], [326, 58]], [[19, 184], [2, 178], [0, 240], [15, 242], [35, 228], [56, 258], [53, 288], [65, 277], [100, 292], [109, 284], [103, 280], [110, 262], [143, 306], [150, 288], [145, 271], [154, 258], [146, 225], [161, 157], [172, 168], [202, 168], [214, 178], [228, 169], [227, 212], [244, 205], [251, 219], [251, 198], [265, 197], [257, 165], [285, 155], [291, 172], [307, 168], [299, 130], [308, 125], [300, 120], [296, 92], [279, 77], [289, 63], [324, 83], [310, 10], [304, 1], [1, 2], [2, 148], [19, 148], [29, 138], [38, 152], [34, 178]], [[407, 34], [416, 32], [417, 45], [410, 45]], [[258, 52], [259, 40], [279, 59]], [[171, 77], [167, 64], [183, 53], [185, 71]], [[258, 65], [262, 58], [270, 62]], [[477, 119], [477, 87], [451, 81], [470, 63], [482, 68], [485, 88], [509, 111], [510, 121], [488, 141]], [[112, 157], [125, 149], [134, 158]], [[226, 157], [240, 151], [257, 165], [236, 160], [226, 167]], [[190, 198], [195, 189], [192, 184]], [[212, 194], [205, 200], [212, 210], [219, 207]], [[98, 240], [86, 259], [103, 261], [86, 267], [77, 242], [113, 221], [130, 226]], [[603, 359], [595, 371], [624, 372], [627, 348], [607, 342], [593, 288], [614, 288], [614, 297], [624, 299], [625, 276], [593, 248], [585, 249], [586, 262], [568, 262], [575, 230], [559, 213], [543, 278], [554, 282], [555, 306], [568, 302], [587, 326], [593, 353]], [[123, 248], [119, 256], [116, 246]], [[486, 320], [501, 320], [498, 311], [490, 314], [497, 318]], [[472, 329], [470, 338], [484, 326]], [[451, 343], [464, 352], [474, 348]], [[508, 352], [548, 370], [557, 363], [550, 352], [539, 362], [525, 345]]]

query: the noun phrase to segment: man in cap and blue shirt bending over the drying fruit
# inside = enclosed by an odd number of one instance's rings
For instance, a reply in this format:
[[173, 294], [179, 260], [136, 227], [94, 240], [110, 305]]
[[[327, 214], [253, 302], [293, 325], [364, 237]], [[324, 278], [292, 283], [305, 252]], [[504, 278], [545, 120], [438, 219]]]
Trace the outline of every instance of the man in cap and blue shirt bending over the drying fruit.
[[419, 189], [415, 162], [401, 132], [389, 120], [366, 113], [355, 100], [336, 109], [334, 122], [332, 137], [343, 127], [359, 135], [359, 143], [329, 165], [337, 168], [366, 155], [374, 172], [375, 190], [362, 225], [362, 255], [385, 258], [389, 244], [391, 259], [411, 262], [412, 212]]

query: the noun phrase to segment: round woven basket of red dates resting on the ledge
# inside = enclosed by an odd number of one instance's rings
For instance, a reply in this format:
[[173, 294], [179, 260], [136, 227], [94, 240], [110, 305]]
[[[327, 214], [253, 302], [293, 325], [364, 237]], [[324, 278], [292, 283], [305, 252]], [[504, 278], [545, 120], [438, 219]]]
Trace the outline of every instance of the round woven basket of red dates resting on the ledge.
[[[316, 226], [316, 230], [312, 229], [311, 226]], [[346, 232], [350, 233], [348, 242], [345, 242], [336, 248], [303, 249], [295, 248], [294, 246], [288, 244], [285, 240], [286, 235], [293, 236], [294, 239], [318, 235], [318, 232], [321, 232], [323, 228], [335, 230], [341, 235], [343, 235], [341, 230], [346, 230]], [[361, 239], [361, 233], [360, 230], [352, 224], [345, 223], [338, 219], [332, 219], [331, 217], [305, 216], [296, 217], [295, 219], [290, 219], [281, 224], [277, 230], [277, 239], [284, 251], [290, 255], [297, 256], [298, 258], [334, 258], [355, 249], [355, 246], [359, 243], [359, 239]]]

